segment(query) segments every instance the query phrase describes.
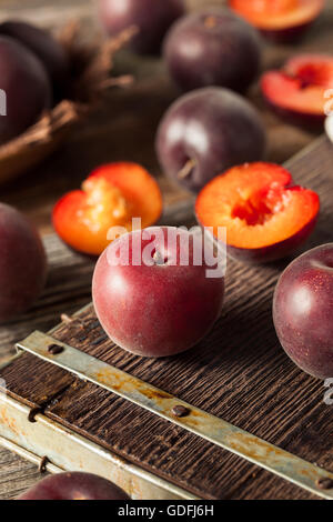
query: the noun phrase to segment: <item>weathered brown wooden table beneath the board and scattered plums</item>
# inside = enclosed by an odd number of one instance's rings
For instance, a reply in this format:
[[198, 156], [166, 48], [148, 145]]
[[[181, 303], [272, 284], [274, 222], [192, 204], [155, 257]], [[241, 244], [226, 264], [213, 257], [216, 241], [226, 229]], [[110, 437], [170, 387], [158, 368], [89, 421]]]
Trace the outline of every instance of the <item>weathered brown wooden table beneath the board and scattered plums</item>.
[[[22, 9], [19, 0], [4, 0], [1, 2], [0, 19], [20, 16], [57, 27], [65, 19], [80, 17], [90, 31], [94, 26], [91, 3], [87, 0], [29, 0]], [[190, 3], [196, 8], [204, 2], [192, 0]], [[264, 69], [275, 67], [287, 56], [299, 51], [330, 52], [333, 42], [333, 1], [327, 0], [326, 3], [326, 12], [309, 32], [302, 46], [264, 47]], [[165, 187], [154, 155], [153, 138], [162, 113], [178, 92], [158, 60], [133, 59], [129, 53], [122, 53], [122, 61], [120, 63], [118, 60], [117, 69], [119, 72], [133, 72], [138, 79], [135, 86], [125, 91], [112, 91], [108, 107], [81, 126], [60, 151], [33, 172], [0, 188], [1, 201], [24, 211], [43, 234], [52, 232], [50, 212], [56, 200], [63, 192], [79, 187], [89, 171], [102, 162], [120, 159], [138, 161], [154, 172], [162, 187]], [[272, 116], [263, 106], [258, 86], [251, 90], [250, 98], [261, 110], [266, 123], [269, 160], [283, 162], [314, 139], [313, 134], [286, 126]], [[169, 195], [172, 200], [182, 198], [182, 193]], [[52, 259], [48, 288], [30, 313], [0, 330], [0, 357], [6, 357], [12, 343], [30, 333], [33, 328], [47, 331], [59, 321], [60, 312], [71, 313], [90, 300], [92, 264], [69, 251], [64, 253], [52, 238], [46, 238], [46, 242]], [[75, 280], [79, 269], [83, 281]], [[39, 473], [34, 465], [0, 449], [0, 499], [16, 496], [38, 479]]]

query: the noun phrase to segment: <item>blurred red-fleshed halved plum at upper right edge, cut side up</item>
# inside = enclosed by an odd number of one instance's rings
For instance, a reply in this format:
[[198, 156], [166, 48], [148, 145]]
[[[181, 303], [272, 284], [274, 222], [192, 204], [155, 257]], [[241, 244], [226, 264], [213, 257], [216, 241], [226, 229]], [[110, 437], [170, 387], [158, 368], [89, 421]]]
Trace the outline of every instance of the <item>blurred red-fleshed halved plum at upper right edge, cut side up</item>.
[[333, 88], [333, 57], [300, 54], [261, 80], [270, 107], [292, 123], [319, 127], [325, 119], [326, 91]]

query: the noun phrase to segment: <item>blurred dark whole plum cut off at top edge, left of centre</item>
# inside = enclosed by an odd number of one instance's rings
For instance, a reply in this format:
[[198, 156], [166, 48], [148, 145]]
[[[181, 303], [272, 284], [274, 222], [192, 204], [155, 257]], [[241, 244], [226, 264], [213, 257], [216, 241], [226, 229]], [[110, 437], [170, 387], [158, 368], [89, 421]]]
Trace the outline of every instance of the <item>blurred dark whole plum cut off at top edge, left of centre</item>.
[[157, 54], [172, 23], [184, 14], [183, 0], [99, 0], [102, 26], [111, 36], [135, 26], [132, 50]]

